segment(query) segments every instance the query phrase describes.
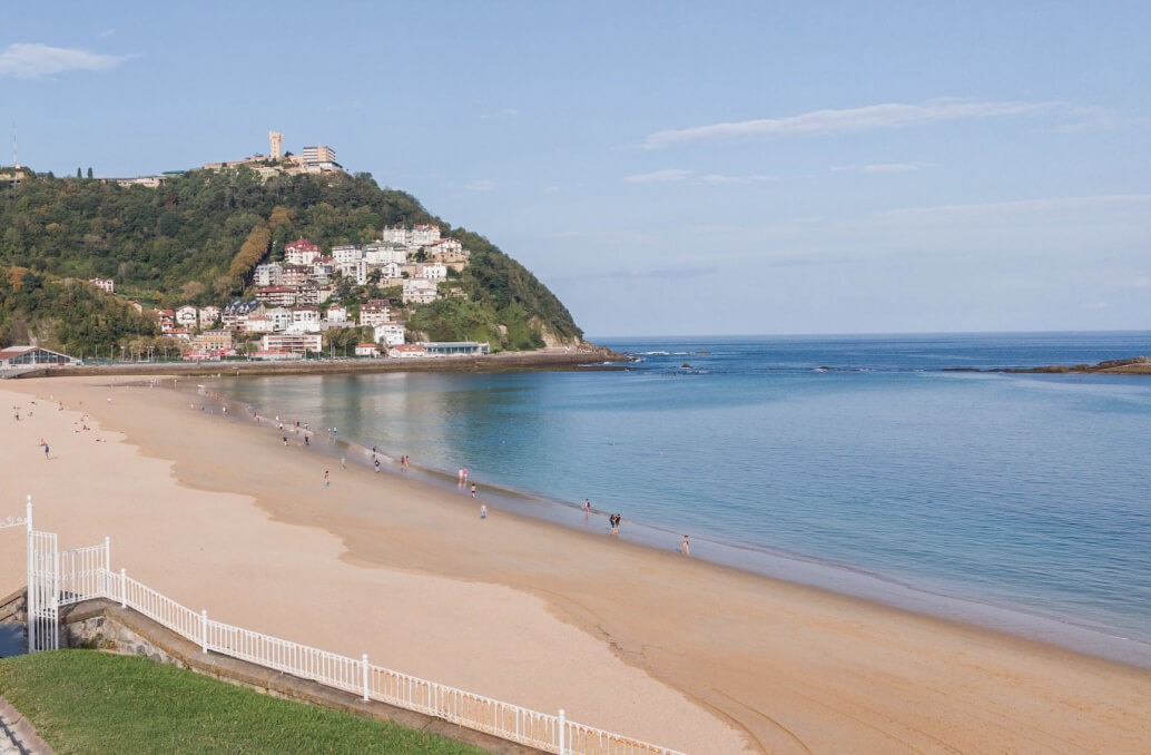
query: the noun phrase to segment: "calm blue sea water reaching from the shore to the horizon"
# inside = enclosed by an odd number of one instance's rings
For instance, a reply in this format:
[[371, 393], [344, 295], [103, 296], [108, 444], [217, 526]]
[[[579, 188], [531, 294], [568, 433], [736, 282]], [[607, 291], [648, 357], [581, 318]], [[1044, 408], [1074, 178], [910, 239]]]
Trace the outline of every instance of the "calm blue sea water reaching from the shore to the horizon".
[[599, 342], [640, 361], [222, 382], [573, 527], [1151, 665], [1151, 376], [945, 372], [1151, 333]]

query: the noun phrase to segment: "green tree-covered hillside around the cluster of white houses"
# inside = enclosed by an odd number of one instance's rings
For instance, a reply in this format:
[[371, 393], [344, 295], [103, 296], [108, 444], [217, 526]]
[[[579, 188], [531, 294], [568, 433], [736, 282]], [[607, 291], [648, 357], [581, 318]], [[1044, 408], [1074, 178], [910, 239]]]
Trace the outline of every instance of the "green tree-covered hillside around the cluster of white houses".
[[[0, 184], [0, 266], [16, 270], [0, 287], [0, 345], [23, 333], [60, 348], [110, 345], [100, 341], [107, 328], [89, 337], [75, 322], [107, 321], [119, 305], [86, 291], [73, 293], [64, 308], [45, 308], [28, 290], [15, 295], [24, 270], [41, 293], [75, 291], [64, 285], [69, 279], [110, 277], [117, 299], [145, 307], [222, 305], [250, 293], [254, 264], [276, 259], [295, 238], [328, 250], [371, 242], [395, 223], [436, 223], [472, 251], [468, 266], [449, 280], [464, 296], [410, 307], [410, 330], [434, 340], [489, 341], [496, 349], [581, 337], [563, 304], [524, 266], [486, 238], [435, 218], [414, 197], [380, 189], [368, 174], [277, 175], [261, 183], [242, 168], [193, 170], [159, 189], [51, 174]], [[373, 293], [379, 291], [341, 288], [341, 297]], [[67, 340], [60, 335], [66, 330]], [[132, 325], [128, 331], [139, 333]]]

